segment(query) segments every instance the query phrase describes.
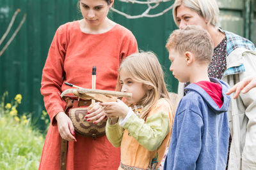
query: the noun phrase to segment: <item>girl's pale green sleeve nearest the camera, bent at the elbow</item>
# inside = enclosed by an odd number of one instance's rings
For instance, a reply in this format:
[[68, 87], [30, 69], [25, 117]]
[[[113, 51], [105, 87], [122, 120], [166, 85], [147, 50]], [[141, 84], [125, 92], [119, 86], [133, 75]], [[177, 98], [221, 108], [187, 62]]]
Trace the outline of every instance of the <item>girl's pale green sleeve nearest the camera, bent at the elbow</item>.
[[124, 124], [129, 134], [135, 138], [141, 146], [147, 150], [156, 150], [170, 131], [169, 115], [160, 112], [147, 118], [146, 124], [143, 119], [135, 114], [127, 119]]

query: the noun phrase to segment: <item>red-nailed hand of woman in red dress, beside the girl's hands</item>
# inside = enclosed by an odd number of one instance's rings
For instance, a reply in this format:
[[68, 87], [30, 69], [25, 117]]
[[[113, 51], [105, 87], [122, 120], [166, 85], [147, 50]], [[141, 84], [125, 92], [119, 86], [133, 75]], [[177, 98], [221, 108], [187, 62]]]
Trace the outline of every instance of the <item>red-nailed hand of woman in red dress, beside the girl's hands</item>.
[[85, 116], [88, 122], [93, 122], [93, 124], [97, 124], [101, 122], [106, 117], [106, 113], [103, 110], [102, 106], [99, 103], [96, 103], [95, 106], [89, 106], [88, 114]]

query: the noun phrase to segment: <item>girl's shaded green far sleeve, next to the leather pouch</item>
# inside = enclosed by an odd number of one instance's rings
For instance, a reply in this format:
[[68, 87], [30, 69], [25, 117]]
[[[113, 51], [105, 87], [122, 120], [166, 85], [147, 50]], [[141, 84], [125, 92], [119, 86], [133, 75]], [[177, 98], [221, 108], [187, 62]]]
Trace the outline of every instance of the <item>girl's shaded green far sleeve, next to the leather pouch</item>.
[[120, 147], [122, 137], [123, 137], [123, 128], [119, 125], [118, 122], [114, 125], [109, 124], [111, 118], [108, 118], [107, 125], [106, 125], [106, 136], [109, 142], [115, 146], [116, 148]]

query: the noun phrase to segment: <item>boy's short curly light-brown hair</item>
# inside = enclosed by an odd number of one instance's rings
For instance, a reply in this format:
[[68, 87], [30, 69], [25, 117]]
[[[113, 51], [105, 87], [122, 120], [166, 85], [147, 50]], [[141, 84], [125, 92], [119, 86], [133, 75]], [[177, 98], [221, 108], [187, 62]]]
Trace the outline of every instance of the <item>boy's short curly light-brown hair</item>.
[[196, 60], [206, 61], [208, 64], [211, 62], [214, 49], [210, 34], [198, 25], [187, 25], [173, 31], [166, 48], [168, 51], [174, 49], [181, 55], [191, 52]]

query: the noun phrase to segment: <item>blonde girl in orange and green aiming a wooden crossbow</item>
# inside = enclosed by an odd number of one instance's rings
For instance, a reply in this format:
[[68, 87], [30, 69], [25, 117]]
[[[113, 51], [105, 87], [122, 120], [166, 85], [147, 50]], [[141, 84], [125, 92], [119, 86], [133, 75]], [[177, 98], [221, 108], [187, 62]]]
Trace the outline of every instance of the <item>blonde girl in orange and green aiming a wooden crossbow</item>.
[[118, 169], [158, 169], [169, 144], [173, 111], [156, 55], [127, 57], [120, 65], [117, 88], [132, 98], [100, 105], [108, 116], [106, 135], [121, 148]]

